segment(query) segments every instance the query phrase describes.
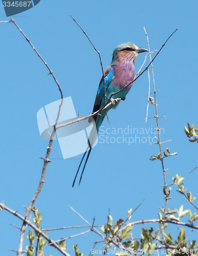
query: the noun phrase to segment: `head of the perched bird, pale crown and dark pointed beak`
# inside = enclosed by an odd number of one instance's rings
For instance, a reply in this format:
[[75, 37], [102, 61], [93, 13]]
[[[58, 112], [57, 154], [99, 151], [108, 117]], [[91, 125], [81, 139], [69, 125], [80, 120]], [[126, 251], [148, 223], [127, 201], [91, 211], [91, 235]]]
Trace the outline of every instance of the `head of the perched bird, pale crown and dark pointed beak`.
[[124, 44], [116, 46], [116, 48], [113, 50], [111, 65], [114, 65], [115, 61], [118, 59], [118, 55], [130, 56], [134, 61], [139, 53], [147, 51], [147, 49], [138, 48], [132, 42], [125, 42]]

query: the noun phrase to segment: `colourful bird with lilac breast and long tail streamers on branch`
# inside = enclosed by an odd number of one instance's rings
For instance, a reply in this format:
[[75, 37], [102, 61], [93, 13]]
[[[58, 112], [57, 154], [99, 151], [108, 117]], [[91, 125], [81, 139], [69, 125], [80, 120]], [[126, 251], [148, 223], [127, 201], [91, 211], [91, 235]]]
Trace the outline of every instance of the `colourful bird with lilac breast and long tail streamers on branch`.
[[[98, 87], [96, 98], [95, 98], [95, 103], [93, 106], [93, 113], [103, 108], [103, 106], [105, 106], [104, 81], [105, 81], [105, 89], [106, 89], [106, 102], [109, 99], [111, 99], [111, 104], [106, 109], [102, 110], [100, 114], [93, 116], [93, 119], [95, 121], [95, 126], [93, 126], [93, 129], [88, 138], [88, 147], [87, 147], [88, 155], [87, 155], [85, 164], [83, 166], [79, 185], [81, 183], [84, 169], [87, 164], [89, 155], [91, 153], [92, 145], [96, 140], [97, 133], [100, 129], [100, 126], [107, 112], [110, 109], [115, 109], [117, 107], [118, 103], [120, 102], [120, 100], [117, 102], [116, 100], [117, 98], [121, 98], [121, 100], [126, 99], [126, 95], [128, 94], [128, 92], [132, 87], [132, 83], [130, 82], [132, 82], [135, 77], [134, 61], [137, 58], [139, 53], [147, 52], [147, 51], [148, 51], [147, 49], [138, 48], [132, 42], [125, 42], [124, 44], [116, 46], [116, 48], [113, 50], [111, 64], [104, 71], [104, 76], [102, 76], [101, 81], [99, 83], [99, 87]], [[120, 91], [121, 89], [122, 91]], [[117, 94], [111, 97], [112, 93], [117, 93]], [[89, 122], [91, 122], [91, 118], [89, 119]], [[83, 162], [83, 159], [86, 153], [87, 151], [84, 153], [83, 158], [80, 162], [76, 177], [73, 180], [72, 187], [75, 185], [76, 178], [79, 173], [79, 169], [81, 167], [81, 164]]]

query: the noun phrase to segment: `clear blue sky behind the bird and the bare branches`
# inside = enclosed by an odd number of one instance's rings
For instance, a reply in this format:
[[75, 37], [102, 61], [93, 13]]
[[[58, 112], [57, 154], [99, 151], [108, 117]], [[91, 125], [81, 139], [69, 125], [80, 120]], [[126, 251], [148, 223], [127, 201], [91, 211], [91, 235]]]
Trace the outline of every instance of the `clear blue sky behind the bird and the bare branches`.
[[[57, 3], [59, 2], [59, 3]], [[82, 31], [70, 18], [76, 18], [101, 52], [104, 69], [111, 62], [113, 49], [131, 41], [138, 47], [147, 48], [143, 27], [150, 39], [151, 50], [160, 49], [167, 37], [177, 28], [166, 46], [154, 61], [158, 114], [166, 116], [159, 120], [164, 128], [161, 134], [163, 151], [178, 155], [165, 159], [165, 168], [171, 176], [185, 177], [184, 186], [197, 197], [197, 144], [190, 143], [184, 134], [186, 122], [197, 122], [197, 1], [52, 1], [41, 0], [34, 8], [13, 16], [17, 25], [53, 70], [64, 97], [71, 96], [75, 110], [80, 115], [92, 111], [101, 67], [97, 53]], [[6, 17], [0, 5], [0, 20]], [[48, 70], [36, 56], [17, 28], [0, 24], [1, 59], [1, 186], [0, 201], [24, 215], [25, 208], [33, 197], [41, 175], [48, 141], [39, 136], [36, 114], [46, 104], [60, 99], [60, 93]], [[138, 71], [145, 53], [135, 62]], [[154, 56], [154, 55], [153, 55]], [[149, 63], [149, 62], [147, 62]], [[151, 89], [153, 91], [153, 89]], [[156, 128], [156, 120], [145, 123], [148, 94], [148, 79], [144, 73], [134, 84], [125, 101], [116, 110], [108, 113], [110, 123], [103, 123], [103, 130], [137, 128], [144, 134], [132, 134], [147, 138], [146, 131]], [[155, 115], [150, 104], [149, 116]], [[137, 131], [135, 130], [135, 131]], [[111, 134], [117, 139], [118, 135]], [[129, 135], [127, 135], [129, 136]], [[154, 134], [150, 136], [155, 137]], [[114, 139], [112, 139], [114, 141]], [[57, 141], [53, 142], [42, 192], [35, 205], [42, 213], [43, 228], [79, 226], [85, 223], [68, 207], [72, 206], [86, 220], [102, 225], [110, 214], [114, 221], [126, 219], [127, 211], [136, 208], [132, 221], [155, 219], [164, 205], [162, 167], [158, 161], [150, 161], [159, 153], [157, 145], [146, 143], [100, 143], [93, 148], [80, 187], [72, 188], [81, 155], [71, 159], [62, 158]], [[143, 139], [144, 141], [144, 139]], [[167, 183], [171, 178], [167, 176]], [[182, 195], [172, 186], [169, 208], [190, 208]], [[196, 200], [195, 200], [196, 204]], [[194, 212], [194, 210], [192, 211]], [[182, 221], [182, 220], [181, 220]], [[8, 248], [18, 248], [18, 229], [21, 222], [6, 211], [1, 211], [0, 237], [2, 255], [13, 255]], [[195, 223], [196, 224], [196, 223]], [[152, 225], [144, 226], [149, 228]], [[137, 230], [137, 232], [135, 231]], [[133, 230], [140, 237], [140, 227]], [[49, 236], [58, 240], [79, 233], [80, 230], [55, 231]], [[175, 234], [178, 232], [175, 227]], [[188, 233], [190, 230], [188, 230]], [[191, 238], [196, 238], [194, 231]], [[26, 234], [27, 237], [27, 234]], [[175, 237], [176, 238], [176, 237]], [[74, 254], [73, 244], [89, 254], [92, 242], [98, 240], [93, 233], [66, 241], [67, 252]], [[24, 245], [27, 245], [27, 240]], [[25, 247], [24, 247], [25, 248]], [[53, 248], [47, 253], [59, 255]]]

